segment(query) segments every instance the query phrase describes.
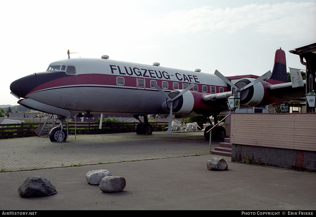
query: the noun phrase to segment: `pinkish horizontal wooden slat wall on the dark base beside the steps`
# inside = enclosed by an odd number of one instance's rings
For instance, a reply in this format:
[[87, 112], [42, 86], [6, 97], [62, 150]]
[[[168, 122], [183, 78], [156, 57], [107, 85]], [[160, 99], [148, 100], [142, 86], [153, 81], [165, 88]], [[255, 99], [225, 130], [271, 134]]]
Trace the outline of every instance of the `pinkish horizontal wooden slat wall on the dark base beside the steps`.
[[316, 113], [231, 114], [230, 143], [316, 151]]

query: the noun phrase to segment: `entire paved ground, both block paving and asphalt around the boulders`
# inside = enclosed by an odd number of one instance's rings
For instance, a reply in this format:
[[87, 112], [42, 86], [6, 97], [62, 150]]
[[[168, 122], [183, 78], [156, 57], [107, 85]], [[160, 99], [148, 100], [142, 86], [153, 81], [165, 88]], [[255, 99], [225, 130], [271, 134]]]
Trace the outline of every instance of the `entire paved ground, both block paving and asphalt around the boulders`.
[[[212, 144], [212, 150], [216, 145]], [[228, 170], [207, 170], [206, 161], [213, 155], [209, 154], [209, 143], [201, 132], [81, 135], [76, 139], [71, 136], [65, 143], [36, 137], [1, 139], [0, 147], [2, 171], [10, 170], [0, 173], [0, 210], [316, 207], [315, 173], [233, 163], [229, 157], [223, 157]], [[70, 167], [78, 164], [86, 166]], [[98, 185], [89, 185], [86, 173], [96, 169], [107, 169], [114, 176], [124, 177], [124, 191], [104, 193]], [[21, 198], [17, 189], [30, 175], [49, 179], [58, 193]]]

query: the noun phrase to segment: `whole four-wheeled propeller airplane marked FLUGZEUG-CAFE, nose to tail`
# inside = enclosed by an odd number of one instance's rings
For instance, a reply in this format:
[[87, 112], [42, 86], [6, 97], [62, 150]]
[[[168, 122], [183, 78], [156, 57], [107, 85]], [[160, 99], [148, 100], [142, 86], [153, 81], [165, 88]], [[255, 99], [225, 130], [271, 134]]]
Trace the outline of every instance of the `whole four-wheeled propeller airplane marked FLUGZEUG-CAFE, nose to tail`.
[[[137, 134], [152, 134], [148, 114], [169, 114], [170, 134], [173, 115], [203, 115], [208, 119], [213, 116], [216, 124], [217, 115], [228, 110], [227, 98], [232, 95], [240, 96], [242, 106], [258, 107], [305, 94], [304, 86], [292, 88], [291, 82], [287, 83], [285, 52], [281, 48], [276, 50], [272, 74], [268, 71], [257, 79], [242, 78], [234, 84], [217, 70], [210, 74], [199, 69], [161, 67], [157, 62], [146, 65], [116, 61], [107, 55], [98, 59], [70, 58], [69, 50], [67, 54], [68, 59], [52, 62], [45, 72], [27, 75], [10, 85], [11, 94], [20, 105], [58, 115], [61, 125], [51, 130], [52, 142], [66, 140], [62, 123], [70, 112], [78, 117], [131, 114], [140, 122]], [[143, 122], [139, 116], [143, 116]], [[206, 139], [211, 126], [204, 131]], [[212, 138], [222, 135], [226, 135], [224, 127], [212, 130]]]

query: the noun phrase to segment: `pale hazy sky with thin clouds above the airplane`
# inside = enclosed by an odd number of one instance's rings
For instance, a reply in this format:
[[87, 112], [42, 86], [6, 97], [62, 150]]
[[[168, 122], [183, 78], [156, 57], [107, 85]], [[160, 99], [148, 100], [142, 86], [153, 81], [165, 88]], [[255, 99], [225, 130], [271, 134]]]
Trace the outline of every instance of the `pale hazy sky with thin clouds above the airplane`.
[[0, 105], [17, 105], [9, 86], [51, 62], [100, 58], [225, 76], [262, 75], [282, 48], [287, 67], [305, 69], [289, 50], [316, 42], [312, 0], [3, 1]]

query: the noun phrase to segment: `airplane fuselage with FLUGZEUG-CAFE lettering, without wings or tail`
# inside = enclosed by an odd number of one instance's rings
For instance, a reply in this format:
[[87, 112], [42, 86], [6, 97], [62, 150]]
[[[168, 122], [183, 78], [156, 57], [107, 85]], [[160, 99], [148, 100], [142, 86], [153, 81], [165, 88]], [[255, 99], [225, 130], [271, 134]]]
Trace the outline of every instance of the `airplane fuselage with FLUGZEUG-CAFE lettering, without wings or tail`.
[[[46, 72], [18, 79], [10, 88], [18, 97], [71, 112], [168, 114], [162, 106], [166, 97], [153, 83], [168, 93], [183, 90], [192, 82], [191, 95], [199, 101], [197, 95], [228, 91], [226, 83], [214, 74], [101, 58], [52, 62]], [[201, 109], [215, 109], [198, 103]], [[178, 114], [191, 112], [189, 106]]]

